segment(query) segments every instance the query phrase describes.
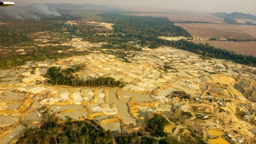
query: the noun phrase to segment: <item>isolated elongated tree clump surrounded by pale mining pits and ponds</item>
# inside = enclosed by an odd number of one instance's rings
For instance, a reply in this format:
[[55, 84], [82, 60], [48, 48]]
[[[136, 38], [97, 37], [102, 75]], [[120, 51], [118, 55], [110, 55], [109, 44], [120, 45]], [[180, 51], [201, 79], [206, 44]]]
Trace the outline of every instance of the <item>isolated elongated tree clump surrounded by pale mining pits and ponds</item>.
[[111, 77], [89, 78], [87, 81], [73, 75], [82, 69], [85, 65], [74, 65], [68, 69], [61, 69], [60, 67], [50, 67], [46, 72], [48, 83], [52, 85], [67, 85], [67, 86], [110, 86], [110, 87], [124, 87], [127, 83], [122, 80], [116, 81]]

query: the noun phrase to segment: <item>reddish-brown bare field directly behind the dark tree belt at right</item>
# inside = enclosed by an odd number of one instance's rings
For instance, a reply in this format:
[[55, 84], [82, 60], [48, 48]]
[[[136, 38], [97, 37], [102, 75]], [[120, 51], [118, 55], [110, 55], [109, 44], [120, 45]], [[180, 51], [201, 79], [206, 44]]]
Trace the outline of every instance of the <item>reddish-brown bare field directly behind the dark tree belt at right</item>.
[[199, 43], [209, 43], [210, 45], [216, 47], [216, 48], [224, 48], [226, 50], [233, 50], [237, 54], [242, 55], [252, 55], [256, 57], [256, 42], [230, 42], [230, 41], [221, 41], [221, 40], [215, 40], [215, 41], [207, 41], [207, 40], [191, 40], [192, 42], [199, 44]]

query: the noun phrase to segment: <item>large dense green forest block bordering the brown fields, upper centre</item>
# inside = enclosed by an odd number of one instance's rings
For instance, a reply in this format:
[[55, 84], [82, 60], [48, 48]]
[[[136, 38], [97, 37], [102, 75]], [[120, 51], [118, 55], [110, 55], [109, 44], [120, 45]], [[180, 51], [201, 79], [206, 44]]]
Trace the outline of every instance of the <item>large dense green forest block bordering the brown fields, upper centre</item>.
[[185, 36], [191, 35], [182, 27], [175, 26], [166, 17], [130, 16], [117, 13], [103, 13], [100, 16], [107, 19], [105, 22], [114, 24], [114, 32], [122, 33], [121, 38], [140, 40], [142, 46], [157, 48], [158, 36]]

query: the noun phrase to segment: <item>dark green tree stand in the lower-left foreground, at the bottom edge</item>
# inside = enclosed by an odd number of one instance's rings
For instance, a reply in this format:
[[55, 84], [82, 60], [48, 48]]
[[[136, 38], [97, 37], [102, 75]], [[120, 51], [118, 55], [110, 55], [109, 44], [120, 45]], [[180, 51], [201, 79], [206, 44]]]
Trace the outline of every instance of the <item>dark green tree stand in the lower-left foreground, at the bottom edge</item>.
[[[42, 113], [41, 127], [26, 128], [20, 134], [17, 144], [112, 144], [110, 131], [105, 131], [92, 120], [63, 121], [45, 110]], [[27, 127], [27, 125], [25, 125]]]

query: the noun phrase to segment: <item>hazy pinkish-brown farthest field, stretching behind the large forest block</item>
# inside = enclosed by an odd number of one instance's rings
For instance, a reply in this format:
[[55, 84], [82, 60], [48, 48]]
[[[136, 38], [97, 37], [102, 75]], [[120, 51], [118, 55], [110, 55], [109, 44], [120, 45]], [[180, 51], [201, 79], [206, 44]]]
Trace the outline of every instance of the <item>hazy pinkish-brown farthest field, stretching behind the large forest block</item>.
[[132, 13], [135, 16], [167, 17], [172, 22], [200, 21], [211, 23], [223, 23], [223, 19], [204, 13], [172, 12], [172, 13]]

